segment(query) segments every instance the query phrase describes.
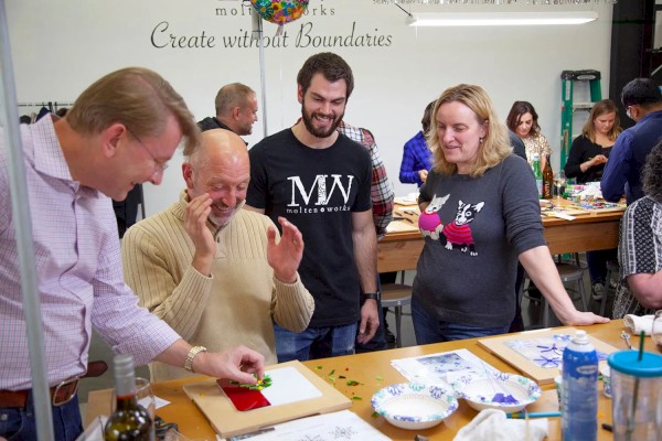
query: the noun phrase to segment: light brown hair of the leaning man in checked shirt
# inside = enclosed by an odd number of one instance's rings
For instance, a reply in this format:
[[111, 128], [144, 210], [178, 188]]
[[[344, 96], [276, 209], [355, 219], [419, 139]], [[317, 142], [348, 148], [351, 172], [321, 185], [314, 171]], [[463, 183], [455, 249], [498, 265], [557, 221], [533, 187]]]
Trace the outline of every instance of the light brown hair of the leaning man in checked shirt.
[[140, 138], [160, 136], [170, 115], [186, 139], [186, 149], [200, 142], [193, 114], [170, 83], [153, 71], [127, 67], [86, 88], [65, 118], [75, 131], [84, 135], [98, 133], [119, 122]]

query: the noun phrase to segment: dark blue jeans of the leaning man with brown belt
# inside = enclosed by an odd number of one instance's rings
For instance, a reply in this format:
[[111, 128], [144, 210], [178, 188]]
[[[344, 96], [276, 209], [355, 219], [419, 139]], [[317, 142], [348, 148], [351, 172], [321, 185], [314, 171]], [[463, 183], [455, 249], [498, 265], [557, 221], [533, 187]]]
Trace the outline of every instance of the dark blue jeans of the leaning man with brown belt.
[[[83, 433], [78, 395], [66, 405], [52, 406], [51, 409], [53, 410], [53, 431], [57, 441], [74, 441]], [[28, 405], [24, 408], [0, 409], [0, 437], [7, 438], [8, 441], [38, 439], [32, 392], [28, 396]]]

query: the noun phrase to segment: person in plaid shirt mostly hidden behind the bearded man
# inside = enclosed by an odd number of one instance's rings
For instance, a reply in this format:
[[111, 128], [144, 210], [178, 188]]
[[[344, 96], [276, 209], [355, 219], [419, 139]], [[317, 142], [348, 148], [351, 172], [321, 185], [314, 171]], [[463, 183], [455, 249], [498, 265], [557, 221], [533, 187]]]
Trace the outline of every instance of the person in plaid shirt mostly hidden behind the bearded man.
[[[386, 226], [393, 219], [393, 185], [386, 176], [386, 168], [380, 157], [380, 150], [375, 138], [370, 130], [351, 126], [345, 121], [340, 121], [338, 131], [350, 138], [352, 141], [359, 142], [365, 147], [370, 153], [370, 159], [373, 165], [373, 175], [371, 184], [371, 197], [373, 202], [373, 222], [377, 233], [377, 240], [386, 234]], [[378, 278], [377, 278], [378, 283]], [[380, 284], [377, 284], [380, 287]], [[373, 340], [365, 344], [356, 342], [356, 353], [386, 349], [386, 334], [384, 313], [381, 300], [377, 300], [377, 311], [380, 312], [380, 327]]]

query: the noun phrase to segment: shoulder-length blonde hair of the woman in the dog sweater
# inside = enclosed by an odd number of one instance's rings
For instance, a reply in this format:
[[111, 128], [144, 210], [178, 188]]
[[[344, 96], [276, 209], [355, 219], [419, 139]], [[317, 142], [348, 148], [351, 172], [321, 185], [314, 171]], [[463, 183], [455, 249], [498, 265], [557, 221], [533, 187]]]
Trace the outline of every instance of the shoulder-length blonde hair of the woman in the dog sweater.
[[[447, 103], [458, 101], [469, 107], [474, 114], [479, 123], [485, 125], [485, 137], [481, 140], [478, 149], [477, 161], [469, 175], [471, 178], [482, 176], [489, 169], [499, 164], [506, 157], [512, 154], [513, 149], [510, 144], [508, 129], [496, 117], [492, 100], [480, 86], [460, 84], [446, 89], [435, 104], [431, 122], [436, 126], [437, 112], [439, 107]], [[457, 173], [458, 166], [447, 162], [441, 149], [441, 142], [436, 127], [430, 127], [426, 140], [435, 158], [433, 168], [435, 171], [451, 175]]]

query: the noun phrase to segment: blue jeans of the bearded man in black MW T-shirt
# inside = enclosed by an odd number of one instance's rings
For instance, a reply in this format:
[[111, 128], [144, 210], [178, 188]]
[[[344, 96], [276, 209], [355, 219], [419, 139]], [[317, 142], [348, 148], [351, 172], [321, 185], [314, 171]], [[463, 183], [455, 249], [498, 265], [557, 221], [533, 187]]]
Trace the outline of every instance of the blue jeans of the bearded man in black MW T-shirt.
[[335, 357], [354, 353], [356, 323], [344, 326], [308, 327], [291, 332], [274, 324], [278, 363]]

